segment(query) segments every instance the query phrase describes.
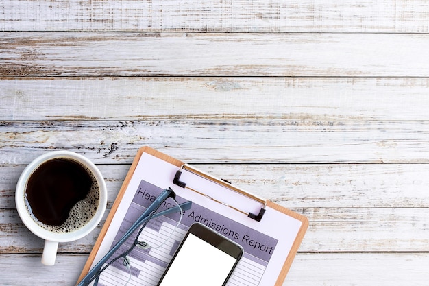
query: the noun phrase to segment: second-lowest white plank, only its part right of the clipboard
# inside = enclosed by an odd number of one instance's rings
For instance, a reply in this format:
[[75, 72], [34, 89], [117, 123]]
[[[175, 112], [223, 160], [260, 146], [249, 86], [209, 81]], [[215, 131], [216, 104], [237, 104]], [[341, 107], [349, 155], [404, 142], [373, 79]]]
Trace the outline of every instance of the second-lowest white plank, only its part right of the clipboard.
[[427, 208], [304, 208], [301, 251], [427, 252]]

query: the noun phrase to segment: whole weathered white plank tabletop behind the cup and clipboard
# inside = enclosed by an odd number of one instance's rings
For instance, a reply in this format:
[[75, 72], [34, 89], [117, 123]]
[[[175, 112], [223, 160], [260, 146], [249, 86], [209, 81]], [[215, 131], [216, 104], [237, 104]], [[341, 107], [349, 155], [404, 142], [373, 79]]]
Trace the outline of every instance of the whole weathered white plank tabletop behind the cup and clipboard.
[[[428, 285], [428, 1], [0, 0], [0, 284], [74, 285], [14, 188], [50, 150], [111, 207], [139, 147], [302, 213], [284, 286]], [[269, 285], [262, 285], [269, 286]]]

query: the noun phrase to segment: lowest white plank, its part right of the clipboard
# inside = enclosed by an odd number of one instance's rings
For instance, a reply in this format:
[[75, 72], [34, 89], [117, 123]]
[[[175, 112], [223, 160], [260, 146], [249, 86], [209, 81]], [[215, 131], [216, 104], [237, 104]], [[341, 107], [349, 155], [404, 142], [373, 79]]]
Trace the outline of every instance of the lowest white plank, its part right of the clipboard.
[[426, 286], [429, 254], [297, 254], [283, 286]]

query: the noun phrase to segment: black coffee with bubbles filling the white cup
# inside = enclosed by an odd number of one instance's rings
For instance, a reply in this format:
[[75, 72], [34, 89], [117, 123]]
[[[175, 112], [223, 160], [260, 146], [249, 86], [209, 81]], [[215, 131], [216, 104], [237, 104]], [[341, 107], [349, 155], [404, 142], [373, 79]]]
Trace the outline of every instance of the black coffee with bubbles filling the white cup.
[[47, 230], [69, 233], [84, 226], [99, 204], [97, 180], [84, 165], [70, 158], [42, 163], [25, 189], [27, 210]]

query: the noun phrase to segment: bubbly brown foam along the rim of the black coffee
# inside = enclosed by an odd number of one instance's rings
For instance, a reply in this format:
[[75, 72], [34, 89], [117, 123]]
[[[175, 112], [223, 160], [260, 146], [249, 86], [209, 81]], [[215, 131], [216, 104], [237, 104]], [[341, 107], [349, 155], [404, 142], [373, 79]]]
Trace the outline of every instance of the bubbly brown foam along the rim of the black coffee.
[[92, 219], [97, 213], [97, 208], [99, 206], [100, 202], [100, 189], [97, 184], [97, 179], [95, 178], [94, 174], [88, 169], [88, 167], [82, 165], [82, 163], [77, 162], [76, 160], [70, 159], [70, 158], [64, 158], [66, 160], [73, 161], [73, 163], [77, 163], [84, 167], [88, 174], [91, 177], [91, 187], [90, 191], [88, 192], [88, 195], [83, 200], [79, 200], [71, 209], [69, 213], [69, 217], [67, 217], [66, 221], [61, 224], [60, 226], [52, 226], [49, 224], [43, 224], [40, 222], [36, 216], [34, 216], [32, 212], [32, 208], [29, 205], [29, 202], [27, 200], [27, 193], [24, 193], [24, 200], [25, 200], [25, 206], [27, 207], [27, 211], [29, 215], [32, 217], [34, 222], [38, 224], [38, 226], [44, 228], [45, 230], [49, 230], [53, 233], [71, 233], [75, 230], [78, 230], [79, 228], [82, 228], [88, 222], [90, 219]]

